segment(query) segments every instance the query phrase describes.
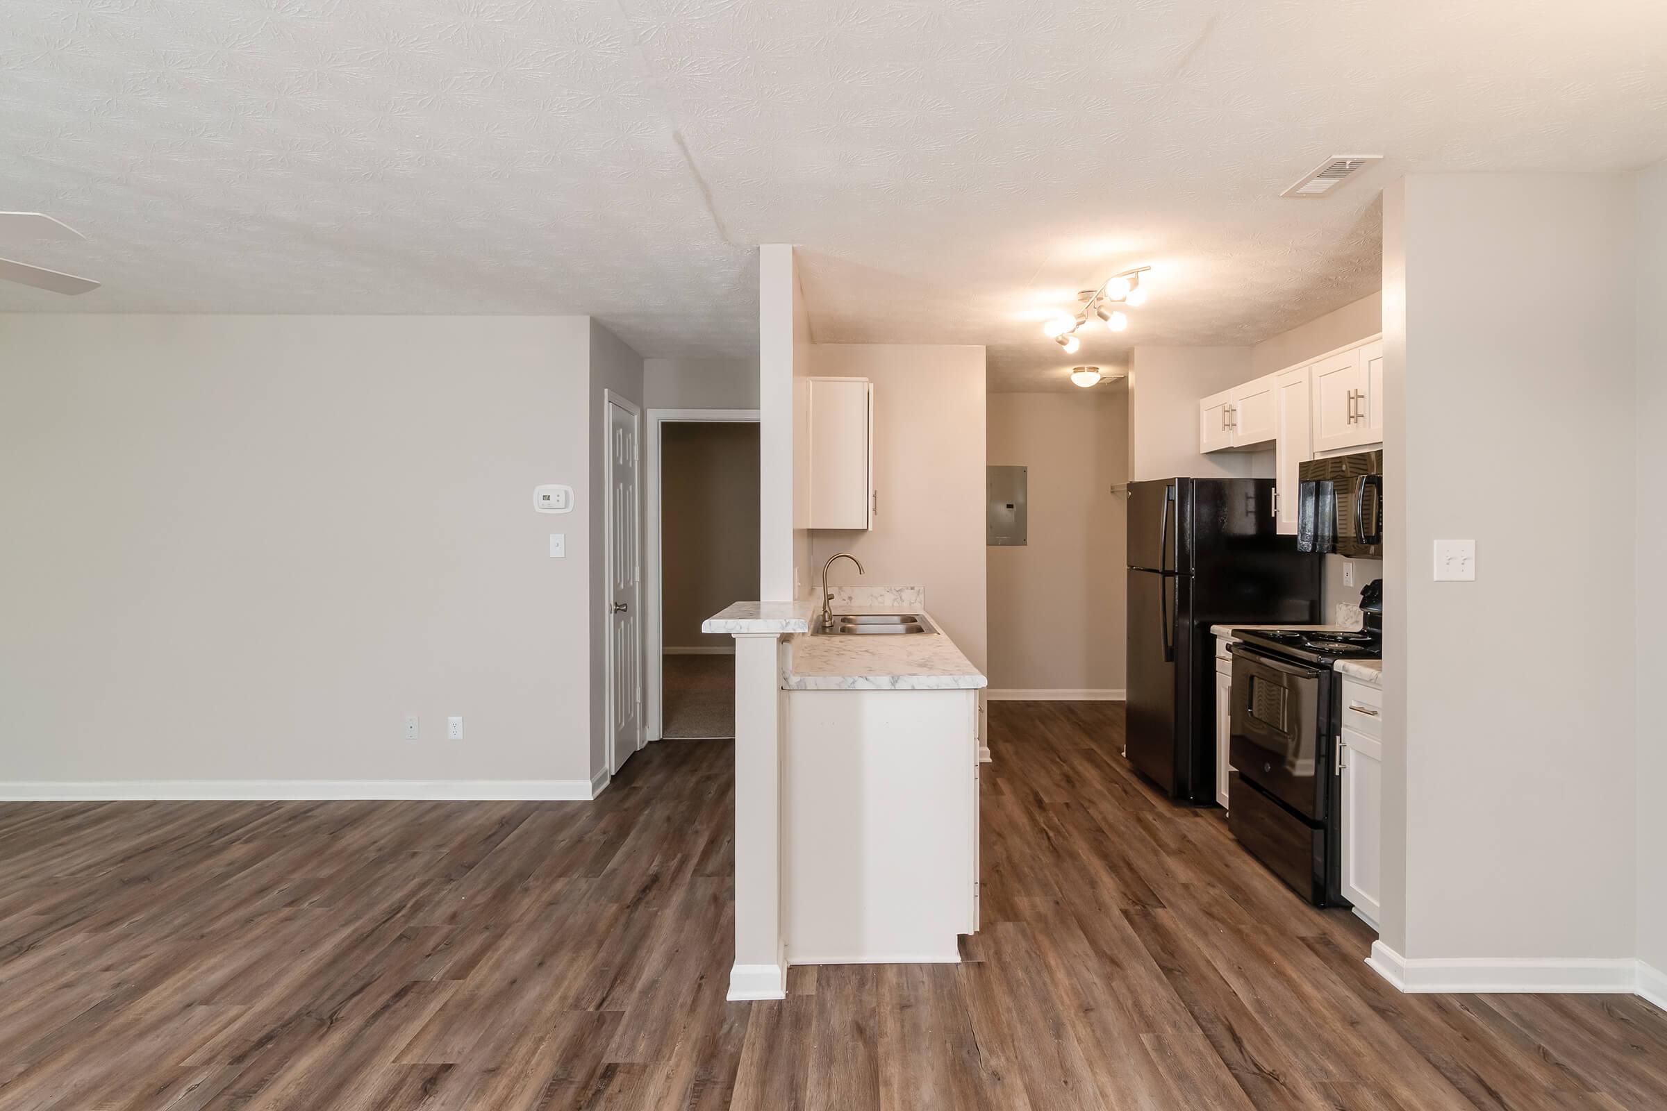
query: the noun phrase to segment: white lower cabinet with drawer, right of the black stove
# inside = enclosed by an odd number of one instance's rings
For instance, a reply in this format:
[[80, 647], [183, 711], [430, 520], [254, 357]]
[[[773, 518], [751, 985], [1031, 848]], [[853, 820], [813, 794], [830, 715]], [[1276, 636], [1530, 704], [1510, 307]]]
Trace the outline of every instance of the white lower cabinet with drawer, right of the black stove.
[[1344, 680], [1342, 693], [1342, 886], [1355, 913], [1377, 928], [1384, 876], [1382, 698], [1375, 686]]

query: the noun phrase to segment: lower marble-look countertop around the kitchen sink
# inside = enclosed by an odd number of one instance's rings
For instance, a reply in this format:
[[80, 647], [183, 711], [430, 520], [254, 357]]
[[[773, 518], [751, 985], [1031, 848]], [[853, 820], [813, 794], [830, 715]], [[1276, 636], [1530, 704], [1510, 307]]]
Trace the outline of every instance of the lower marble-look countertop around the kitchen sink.
[[[897, 606], [840, 606], [840, 613], [897, 613]], [[937, 618], [925, 615], [934, 628]], [[989, 680], [949, 636], [822, 636], [788, 641], [782, 688], [788, 691], [942, 691], [987, 686]]]

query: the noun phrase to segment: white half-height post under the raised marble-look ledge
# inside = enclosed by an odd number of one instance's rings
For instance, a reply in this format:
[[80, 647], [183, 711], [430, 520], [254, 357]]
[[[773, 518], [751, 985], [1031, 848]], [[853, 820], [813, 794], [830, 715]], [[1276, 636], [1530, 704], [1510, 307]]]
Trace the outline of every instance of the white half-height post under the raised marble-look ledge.
[[735, 635], [735, 966], [730, 999], [787, 996], [780, 633]]

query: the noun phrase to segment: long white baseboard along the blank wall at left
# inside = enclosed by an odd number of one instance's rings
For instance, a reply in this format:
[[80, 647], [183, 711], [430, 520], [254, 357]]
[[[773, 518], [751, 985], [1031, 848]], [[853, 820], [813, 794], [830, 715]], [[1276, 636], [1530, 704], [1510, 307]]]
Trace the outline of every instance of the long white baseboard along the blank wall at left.
[[85, 801], [588, 801], [607, 786], [592, 780], [110, 780], [0, 783], [0, 803]]

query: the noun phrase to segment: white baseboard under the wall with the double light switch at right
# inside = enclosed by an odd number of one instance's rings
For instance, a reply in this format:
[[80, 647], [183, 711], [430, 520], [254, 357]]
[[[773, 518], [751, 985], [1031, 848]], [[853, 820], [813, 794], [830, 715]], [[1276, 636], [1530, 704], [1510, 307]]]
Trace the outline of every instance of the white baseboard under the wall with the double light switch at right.
[[[1379, 976], [1412, 994], [1537, 993], [1627, 994], [1644, 989], [1642, 961], [1625, 958], [1405, 958], [1382, 941], [1365, 961]], [[1650, 969], [1654, 971], [1654, 969]]]

